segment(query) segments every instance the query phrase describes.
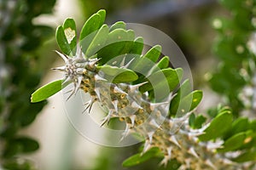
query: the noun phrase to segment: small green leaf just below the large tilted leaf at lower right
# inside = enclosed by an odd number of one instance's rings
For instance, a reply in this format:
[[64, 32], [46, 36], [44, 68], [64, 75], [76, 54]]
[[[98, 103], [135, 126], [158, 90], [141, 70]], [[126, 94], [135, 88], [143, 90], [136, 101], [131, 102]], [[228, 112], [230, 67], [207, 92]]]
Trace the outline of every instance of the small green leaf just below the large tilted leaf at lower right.
[[218, 152], [226, 152], [230, 150], [236, 150], [244, 144], [244, 140], [247, 138], [247, 133], [236, 133], [230, 139], [224, 142], [224, 148], [218, 149]]

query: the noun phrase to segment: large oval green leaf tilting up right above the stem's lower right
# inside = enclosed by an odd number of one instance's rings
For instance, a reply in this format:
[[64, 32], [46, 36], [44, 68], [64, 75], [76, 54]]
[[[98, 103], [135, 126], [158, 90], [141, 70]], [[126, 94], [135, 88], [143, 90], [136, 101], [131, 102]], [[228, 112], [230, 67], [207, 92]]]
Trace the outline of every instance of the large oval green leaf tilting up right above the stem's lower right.
[[216, 116], [209, 127], [204, 131], [205, 134], [199, 136], [201, 141], [216, 139], [222, 136], [227, 130], [230, 129], [233, 116], [231, 111], [223, 111]]

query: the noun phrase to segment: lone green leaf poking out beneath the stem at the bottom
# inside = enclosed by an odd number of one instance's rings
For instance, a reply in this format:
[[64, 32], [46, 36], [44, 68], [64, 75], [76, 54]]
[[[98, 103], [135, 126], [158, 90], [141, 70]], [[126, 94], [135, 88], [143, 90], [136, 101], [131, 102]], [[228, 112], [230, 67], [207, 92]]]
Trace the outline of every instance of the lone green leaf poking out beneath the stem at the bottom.
[[160, 150], [156, 147], [148, 150], [146, 153], [142, 155], [142, 153], [138, 153], [134, 156], [127, 158], [123, 161], [123, 167], [132, 167], [138, 164], [143, 163], [144, 161], [148, 161], [150, 158], [154, 156], [158, 156], [160, 154]]

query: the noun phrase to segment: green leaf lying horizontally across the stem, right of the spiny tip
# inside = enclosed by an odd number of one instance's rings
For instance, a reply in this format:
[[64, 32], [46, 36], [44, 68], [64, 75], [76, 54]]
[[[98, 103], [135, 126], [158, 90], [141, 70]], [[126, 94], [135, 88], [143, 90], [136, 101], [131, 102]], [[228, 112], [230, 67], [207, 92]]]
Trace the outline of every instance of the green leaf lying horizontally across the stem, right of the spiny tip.
[[97, 66], [97, 69], [99, 72], [103, 72], [105, 79], [113, 83], [133, 82], [137, 80], [137, 74], [129, 69], [110, 65]]

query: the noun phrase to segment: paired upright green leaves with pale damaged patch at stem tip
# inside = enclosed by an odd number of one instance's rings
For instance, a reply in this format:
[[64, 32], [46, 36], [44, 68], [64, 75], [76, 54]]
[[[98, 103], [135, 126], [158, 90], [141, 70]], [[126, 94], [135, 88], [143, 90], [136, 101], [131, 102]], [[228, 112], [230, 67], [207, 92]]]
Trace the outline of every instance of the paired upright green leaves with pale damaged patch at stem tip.
[[73, 19], [65, 20], [63, 26], [56, 30], [56, 40], [64, 54], [74, 56], [77, 45], [77, 31]]

